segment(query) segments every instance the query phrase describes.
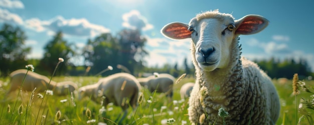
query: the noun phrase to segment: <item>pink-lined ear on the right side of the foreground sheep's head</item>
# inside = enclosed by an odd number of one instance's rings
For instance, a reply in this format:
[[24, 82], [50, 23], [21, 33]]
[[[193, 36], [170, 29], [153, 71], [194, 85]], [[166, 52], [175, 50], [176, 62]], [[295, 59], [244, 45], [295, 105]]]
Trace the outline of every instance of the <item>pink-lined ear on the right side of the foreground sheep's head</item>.
[[236, 35], [250, 35], [262, 31], [268, 26], [269, 21], [259, 15], [247, 15], [235, 21]]

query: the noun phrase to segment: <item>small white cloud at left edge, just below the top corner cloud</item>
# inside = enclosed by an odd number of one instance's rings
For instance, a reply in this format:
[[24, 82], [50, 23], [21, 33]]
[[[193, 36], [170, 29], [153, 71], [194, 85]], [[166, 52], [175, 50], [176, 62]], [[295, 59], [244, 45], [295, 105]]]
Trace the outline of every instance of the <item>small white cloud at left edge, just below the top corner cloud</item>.
[[22, 18], [14, 13], [10, 13], [8, 10], [0, 8], [0, 22], [12, 22], [16, 24], [23, 24]]

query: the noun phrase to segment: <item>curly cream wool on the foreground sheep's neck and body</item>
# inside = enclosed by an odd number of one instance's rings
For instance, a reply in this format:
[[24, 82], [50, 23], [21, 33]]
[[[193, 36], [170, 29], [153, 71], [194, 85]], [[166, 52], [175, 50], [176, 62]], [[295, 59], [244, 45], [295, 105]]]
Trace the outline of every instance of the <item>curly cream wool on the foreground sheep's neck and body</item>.
[[[232, 44], [234, 55], [230, 57], [228, 68], [212, 72], [204, 72], [198, 67], [194, 57], [195, 47], [193, 42], [191, 44], [197, 75], [188, 108], [192, 123], [199, 124], [201, 114], [206, 113], [203, 124], [223, 124], [218, 116], [219, 108], [223, 107], [229, 113], [225, 117], [227, 124], [248, 124], [248, 121], [251, 121], [250, 124], [274, 124], [279, 115], [274, 109], [280, 108], [277, 101], [272, 101], [278, 100], [276, 90], [270, 78], [255, 63], [241, 58], [241, 46], [236, 39]], [[204, 87], [207, 94], [199, 96]]]

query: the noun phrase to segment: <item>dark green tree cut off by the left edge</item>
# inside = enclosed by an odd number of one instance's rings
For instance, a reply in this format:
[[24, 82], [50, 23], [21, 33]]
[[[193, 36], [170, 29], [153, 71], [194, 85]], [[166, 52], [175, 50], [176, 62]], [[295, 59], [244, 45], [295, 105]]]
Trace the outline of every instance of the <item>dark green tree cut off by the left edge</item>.
[[7, 76], [16, 69], [22, 69], [27, 65], [26, 55], [31, 48], [25, 46], [27, 39], [24, 31], [19, 27], [4, 24], [0, 31], [0, 71]]

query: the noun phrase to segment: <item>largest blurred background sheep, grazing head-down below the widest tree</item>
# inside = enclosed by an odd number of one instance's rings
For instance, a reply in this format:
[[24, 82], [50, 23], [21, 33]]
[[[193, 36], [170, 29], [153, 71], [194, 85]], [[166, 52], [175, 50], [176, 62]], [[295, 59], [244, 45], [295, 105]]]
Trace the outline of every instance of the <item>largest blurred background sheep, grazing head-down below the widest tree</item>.
[[93, 101], [100, 102], [102, 96], [105, 97], [103, 104], [113, 102], [124, 111], [121, 120], [127, 114], [128, 105], [135, 109], [138, 105], [137, 98], [141, 86], [137, 79], [128, 73], [116, 73], [106, 78], [100, 79], [96, 84], [86, 85], [79, 88], [79, 99], [88, 96]]

